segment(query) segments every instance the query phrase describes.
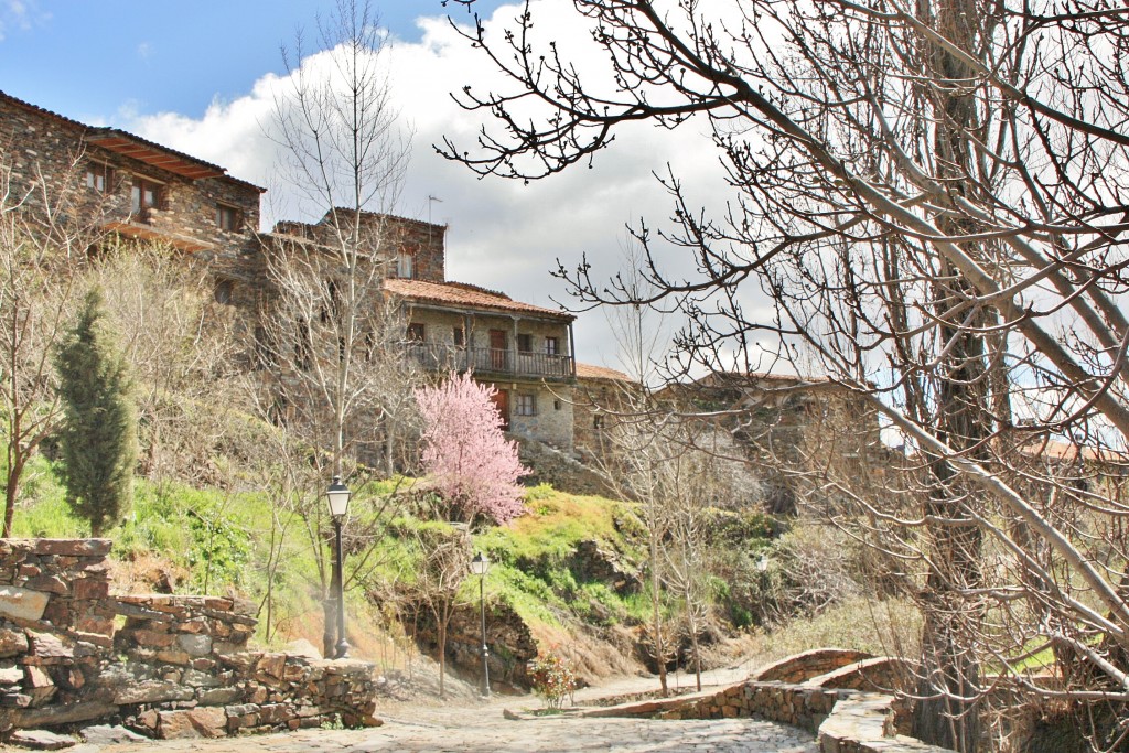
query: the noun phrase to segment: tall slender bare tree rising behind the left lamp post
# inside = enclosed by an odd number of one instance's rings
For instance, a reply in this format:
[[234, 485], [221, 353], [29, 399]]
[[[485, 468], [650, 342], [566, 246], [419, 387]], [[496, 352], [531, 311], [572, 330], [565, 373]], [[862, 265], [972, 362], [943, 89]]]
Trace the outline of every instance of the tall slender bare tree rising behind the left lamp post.
[[[380, 399], [382, 388], [410, 392], [411, 383], [403, 359], [387, 351], [403, 330], [383, 292], [396, 247], [386, 212], [402, 185], [408, 140], [390, 103], [383, 30], [368, 2], [340, 0], [318, 19], [322, 54], [307, 58], [300, 33], [296, 42], [283, 50], [289, 78], [277, 95], [271, 135], [300, 209], [324, 218], [303, 226], [314, 237], [269, 240], [272, 290], [257, 340], [275, 376], [278, 411], [310, 445], [327, 448], [326, 479], [347, 479], [347, 463], [357, 461], [373, 423], [410, 404]], [[315, 465], [324, 467], [321, 459]]]

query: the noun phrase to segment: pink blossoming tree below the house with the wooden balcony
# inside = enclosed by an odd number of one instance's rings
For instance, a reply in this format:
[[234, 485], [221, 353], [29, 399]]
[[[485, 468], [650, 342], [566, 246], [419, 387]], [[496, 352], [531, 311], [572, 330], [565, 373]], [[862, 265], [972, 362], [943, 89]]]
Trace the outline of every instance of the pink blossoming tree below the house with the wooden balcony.
[[470, 374], [415, 391], [423, 415], [423, 470], [454, 517], [506, 523], [525, 509], [517, 480], [530, 471], [502, 435], [492, 386]]

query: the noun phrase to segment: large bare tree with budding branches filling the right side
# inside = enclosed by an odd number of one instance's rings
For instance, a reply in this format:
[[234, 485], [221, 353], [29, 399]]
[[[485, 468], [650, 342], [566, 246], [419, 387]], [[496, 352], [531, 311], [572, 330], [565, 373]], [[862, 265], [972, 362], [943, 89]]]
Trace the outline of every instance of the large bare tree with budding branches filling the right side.
[[[875, 528], [901, 532], [886, 546], [913, 563], [926, 618], [920, 736], [975, 746], [995, 682], [986, 660], [1043, 697], [1129, 701], [1129, 552], [1114, 523], [1126, 509], [1023, 459], [1040, 439], [1097, 453], [1108, 469], [1126, 459], [1129, 79], [1112, 51], [1129, 40], [1129, 11], [975, 0], [574, 7], [613, 75], [581, 78], [593, 69], [541, 46], [539, 3], [504, 37], [476, 24], [471, 41], [515, 86], [464, 90], [464, 105], [501, 129], [476, 151], [448, 143], [447, 154], [527, 180], [595, 159], [631, 123], [708, 125], [734, 198], [711, 214], [664, 180], [673, 227], [638, 230], [656, 292], [601, 284], [586, 264], [561, 274], [585, 301], [681, 308], [684, 369], [756, 370], [751, 343], [774, 339], [773, 364], [800, 373], [803, 343], [905, 437], [916, 469], [901, 480], [916, 493], [899, 499], [914, 508], [879, 509], [838, 481]], [[668, 275], [650, 253], [658, 238], [697, 272]], [[772, 319], [746, 315], [752, 296], [771, 301]], [[1004, 615], [1006, 633], [989, 627]], [[1060, 666], [1074, 683], [1065, 689], [1031, 680], [1018, 657], [1034, 636], [1087, 672]], [[1112, 729], [1105, 744], [1124, 734]]]

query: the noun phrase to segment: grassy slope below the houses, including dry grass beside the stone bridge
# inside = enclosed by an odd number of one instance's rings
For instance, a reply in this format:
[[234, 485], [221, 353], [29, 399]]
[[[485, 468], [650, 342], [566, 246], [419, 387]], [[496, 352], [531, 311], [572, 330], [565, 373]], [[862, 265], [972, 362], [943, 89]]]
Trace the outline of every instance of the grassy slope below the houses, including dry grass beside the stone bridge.
[[[375, 491], [386, 493], [392, 489], [387, 484]], [[86, 535], [85, 524], [70, 515], [54, 471], [43, 458], [32, 467], [24, 498], [36, 501], [17, 510], [16, 536]], [[528, 490], [526, 500], [526, 515], [475, 536], [475, 549], [484, 551], [493, 563], [485, 584], [487, 598], [509, 604], [545, 648], [587, 641], [589, 664], [614, 666], [616, 658], [622, 660], [616, 654], [622, 653], [623, 640], [629, 640], [623, 637], [649, 620], [649, 598], [646, 589], [618, 592], [613, 584], [590, 577], [575, 552], [581, 542], [595, 542], [601, 551], [612, 553], [623, 569], [641, 575], [645, 539], [639, 519], [630, 504], [568, 494], [548, 485]], [[359, 506], [356, 511], [362, 515], [364, 509]], [[148, 590], [156, 575], [165, 572], [176, 593], [238, 594], [263, 604], [270, 520], [270, 501], [263, 494], [227, 494], [216, 489], [138, 480], [133, 510], [110, 533], [114, 540], [116, 586], [120, 590]], [[411, 571], [413, 554], [408, 537], [402, 535], [404, 531], [445, 525], [396, 518], [394, 527], [401, 535], [379, 537], [371, 560], [373, 577], [387, 581]], [[734, 527], [747, 531], [752, 526], [736, 520]], [[764, 535], [767, 532], [756, 531], [743, 545], [761, 545]], [[280, 645], [306, 638], [317, 645], [322, 633], [317, 568], [297, 527], [288, 535], [283, 551], [283, 567], [273, 576], [270, 619], [274, 632], [269, 642]], [[476, 599], [474, 578], [469, 578], [463, 589], [465, 601]], [[349, 605], [355, 654], [385, 665], [402, 663], [412, 650], [409, 641], [395, 625], [387, 627], [379, 605], [362, 602], [361, 592], [356, 589]], [[916, 615], [899, 619], [899, 610], [884, 608], [883, 614], [874, 615], [874, 622], [859, 620], [860, 611], [866, 608], [856, 599], [819, 618], [797, 620], [784, 630], [754, 631], [743, 649], [765, 660], [817, 645], [896, 651], [889, 636], [916, 632]], [[259, 639], [266, 642], [265, 610], [260, 616]], [[885, 629], [875, 631], [875, 623], [879, 628], [885, 624]], [[623, 640], [618, 647], [605, 647], [601, 655], [601, 649], [592, 645], [594, 633], [609, 640], [618, 633]], [[584, 663], [581, 657], [574, 657]]]

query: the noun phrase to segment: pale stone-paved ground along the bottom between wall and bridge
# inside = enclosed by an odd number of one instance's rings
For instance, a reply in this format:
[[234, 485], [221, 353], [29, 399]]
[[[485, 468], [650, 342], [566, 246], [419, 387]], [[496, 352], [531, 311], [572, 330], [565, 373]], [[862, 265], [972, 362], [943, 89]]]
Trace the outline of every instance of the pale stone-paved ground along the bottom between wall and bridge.
[[[718, 684], [746, 673], [717, 675]], [[654, 689], [654, 681], [646, 689]], [[639, 681], [592, 689], [581, 697], [644, 690]], [[578, 700], [580, 700], [578, 698]], [[496, 698], [431, 706], [395, 703], [377, 713], [383, 727], [362, 730], [310, 729], [217, 741], [139, 743], [98, 747], [80, 745], [73, 753], [367, 753], [369, 751], [469, 751], [544, 753], [549, 751], [719, 751], [733, 753], [815, 753], [813, 736], [756, 719], [650, 720], [572, 716], [510, 720], [502, 710], [533, 709], [530, 697]]]

